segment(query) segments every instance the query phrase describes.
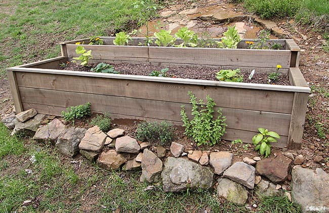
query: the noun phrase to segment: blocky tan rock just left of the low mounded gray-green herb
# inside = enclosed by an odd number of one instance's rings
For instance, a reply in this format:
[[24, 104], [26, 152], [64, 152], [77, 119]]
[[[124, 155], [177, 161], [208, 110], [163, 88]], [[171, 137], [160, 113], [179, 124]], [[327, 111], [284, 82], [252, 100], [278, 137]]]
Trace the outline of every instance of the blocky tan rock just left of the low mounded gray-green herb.
[[116, 138], [115, 150], [117, 152], [139, 153], [141, 150], [140, 145], [135, 138], [129, 136]]

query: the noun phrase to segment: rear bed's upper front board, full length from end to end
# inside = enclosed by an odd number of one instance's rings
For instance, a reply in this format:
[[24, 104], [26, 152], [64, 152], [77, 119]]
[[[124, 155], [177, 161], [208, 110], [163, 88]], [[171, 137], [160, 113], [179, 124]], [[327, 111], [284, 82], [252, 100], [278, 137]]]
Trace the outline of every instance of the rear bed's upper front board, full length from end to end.
[[[75, 44], [67, 44], [67, 57], [77, 57]], [[241, 67], [290, 67], [290, 50], [180, 48], [147, 46], [83, 45], [92, 50], [94, 59], [163, 62], [175, 64]]]

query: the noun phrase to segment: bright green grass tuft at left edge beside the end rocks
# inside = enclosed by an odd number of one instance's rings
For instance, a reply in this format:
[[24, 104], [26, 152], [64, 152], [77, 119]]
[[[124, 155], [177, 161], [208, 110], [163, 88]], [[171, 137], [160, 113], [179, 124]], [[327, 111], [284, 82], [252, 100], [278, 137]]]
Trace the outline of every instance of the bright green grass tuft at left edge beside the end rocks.
[[24, 142], [10, 136], [7, 127], [0, 122], [0, 159], [8, 154], [20, 155], [24, 151]]

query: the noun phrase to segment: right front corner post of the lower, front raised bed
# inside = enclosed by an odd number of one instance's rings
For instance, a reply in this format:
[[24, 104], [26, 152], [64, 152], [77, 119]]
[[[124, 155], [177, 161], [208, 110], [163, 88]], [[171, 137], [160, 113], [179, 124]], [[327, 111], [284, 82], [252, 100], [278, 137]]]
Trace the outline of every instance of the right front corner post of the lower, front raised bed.
[[293, 112], [289, 127], [288, 147], [301, 148], [305, 116], [307, 110], [308, 93], [296, 92], [294, 96]]

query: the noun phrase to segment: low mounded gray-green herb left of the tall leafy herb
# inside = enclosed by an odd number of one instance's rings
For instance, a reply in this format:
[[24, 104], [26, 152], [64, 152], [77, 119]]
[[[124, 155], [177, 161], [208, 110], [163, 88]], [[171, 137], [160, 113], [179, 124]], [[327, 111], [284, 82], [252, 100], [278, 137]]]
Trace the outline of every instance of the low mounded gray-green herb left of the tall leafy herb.
[[172, 142], [175, 136], [174, 126], [166, 121], [141, 122], [137, 126], [137, 140], [148, 141], [155, 145], [167, 145]]

